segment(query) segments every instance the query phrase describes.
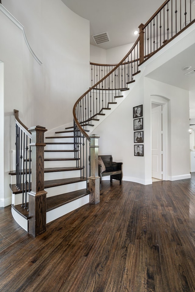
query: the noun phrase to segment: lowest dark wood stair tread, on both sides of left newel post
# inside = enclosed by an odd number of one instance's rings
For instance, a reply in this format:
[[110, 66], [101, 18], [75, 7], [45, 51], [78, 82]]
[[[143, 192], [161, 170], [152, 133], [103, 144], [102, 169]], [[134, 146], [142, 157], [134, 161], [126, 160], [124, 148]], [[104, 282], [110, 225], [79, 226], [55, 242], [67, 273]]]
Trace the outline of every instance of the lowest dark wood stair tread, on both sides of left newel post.
[[[90, 191], [88, 189], [80, 189], [73, 192], [49, 197], [47, 198], [46, 212], [54, 210], [55, 208], [61, 207], [63, 205], [66, 205], [70, 202], [73, 202], [89, 194], [90, 194]], [[27, 207], [28, 207], [28, 203], [27, 203]], [[27, 220], [30, 219], [29, 212], [27, 211], [27, 209], [24, 209], [24, 207], [21, 207], [21, 204], [16, 205], [16, 206], [12, 205], [12, 208], [18, 214], [20, 214], [23, 218]]]

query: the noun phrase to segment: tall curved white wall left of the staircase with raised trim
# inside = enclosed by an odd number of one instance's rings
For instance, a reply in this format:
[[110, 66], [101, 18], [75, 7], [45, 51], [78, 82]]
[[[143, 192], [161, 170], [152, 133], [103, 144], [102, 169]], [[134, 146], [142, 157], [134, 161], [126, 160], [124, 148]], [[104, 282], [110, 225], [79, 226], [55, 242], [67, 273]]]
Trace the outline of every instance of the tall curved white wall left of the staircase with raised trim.
[[0, 11], [0, 60], [4, 63], [4, 201], [9, 190], [10, 151], [14, 149], [13, 109], [27, 127], [48, 130], [73, 121], [76, 100], [89, 88], [89, 21], [61, 0], [2, 0], [24, 26], [37, 57], [33, 58], [22, 30]]

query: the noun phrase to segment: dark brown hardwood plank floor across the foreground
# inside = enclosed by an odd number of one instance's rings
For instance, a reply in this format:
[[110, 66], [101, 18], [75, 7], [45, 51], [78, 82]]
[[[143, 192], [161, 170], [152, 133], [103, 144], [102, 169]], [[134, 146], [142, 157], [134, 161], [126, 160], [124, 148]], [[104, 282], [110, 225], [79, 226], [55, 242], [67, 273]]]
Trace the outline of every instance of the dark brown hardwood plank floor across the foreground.
[[36, 238], [0, 208], [0, 291], [194, 292], [195, 173], [101, 194]]

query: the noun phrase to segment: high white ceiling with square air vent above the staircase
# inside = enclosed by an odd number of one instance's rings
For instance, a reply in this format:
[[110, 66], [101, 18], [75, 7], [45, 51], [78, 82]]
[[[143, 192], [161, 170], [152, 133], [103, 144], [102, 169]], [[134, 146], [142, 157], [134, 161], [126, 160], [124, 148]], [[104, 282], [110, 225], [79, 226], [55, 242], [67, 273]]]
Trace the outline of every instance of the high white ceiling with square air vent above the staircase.
[[157, 11], [163, 0], [62, 0], [73, 12], [90, 21], [90, 43], [96, 45], [92, 35], [107, 31], [110, 42], [98, 45], [103, 49], [134, 43], [141, 23]]

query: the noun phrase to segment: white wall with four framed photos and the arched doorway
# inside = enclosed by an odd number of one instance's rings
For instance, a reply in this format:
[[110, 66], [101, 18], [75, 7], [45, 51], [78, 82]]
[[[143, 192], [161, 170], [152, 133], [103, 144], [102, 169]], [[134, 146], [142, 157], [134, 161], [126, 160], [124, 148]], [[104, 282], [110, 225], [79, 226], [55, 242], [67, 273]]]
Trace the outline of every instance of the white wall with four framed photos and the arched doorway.
[[[188, 91], [144, 77], [92, 134], [100, 135], [99, 155], [123, 162], [123, 180], [151, 183], [151, 96], [168, 99], [168, 179], [189, 177]], [[134, 156], [133, 107], [143, 104], [144, 157]]]

